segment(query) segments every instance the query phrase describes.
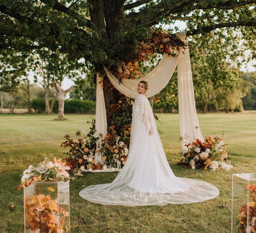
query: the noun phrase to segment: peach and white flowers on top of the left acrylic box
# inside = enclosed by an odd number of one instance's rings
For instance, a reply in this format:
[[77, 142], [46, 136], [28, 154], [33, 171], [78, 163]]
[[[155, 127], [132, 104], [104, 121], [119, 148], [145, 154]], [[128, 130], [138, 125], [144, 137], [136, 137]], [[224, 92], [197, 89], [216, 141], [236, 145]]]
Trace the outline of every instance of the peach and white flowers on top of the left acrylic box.
[[29, 165], [28, 169], [23, 172], [21, 177], [22, 184], [19, 185], [18, 190], [24, 186], [34, 183], [35, 181], [68, 181], [69, 180], [69, 166], [66, 166], [66, 162], [62, 162], [61, 159], [54, 157], [53, 161], [45, 158], [38, 165]]

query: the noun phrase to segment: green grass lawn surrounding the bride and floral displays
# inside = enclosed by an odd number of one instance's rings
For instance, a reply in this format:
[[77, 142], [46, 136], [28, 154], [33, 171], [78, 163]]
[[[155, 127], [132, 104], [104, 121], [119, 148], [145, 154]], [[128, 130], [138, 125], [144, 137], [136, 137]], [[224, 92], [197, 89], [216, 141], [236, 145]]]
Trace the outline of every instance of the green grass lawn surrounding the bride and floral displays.
[[[160, 136], [170, 166], [177, 176], [208, 181], [220, 195], [203, 203], [123, 207], [85, 201], [79, 191], [90, 184], [111, 182], [116, 172], [86, 173], [70, 183], [71, 232], [231, 232], [231, 174], [255, 172], [256, 114], [198, 114], [203, 135], [221, 135], [231, 151], [231, 171], [192, 170], [177, 166], [179, 120], [177, 114], [159, 114]], [[0, 115], [0, 232], [24, 232], [23, 192], [17, 191], [20, 174], [44, 157], [63, 157], [64, 134], [88, 132], [90, 115]], [[11, 203], [14, 208], [11, 208]], [[224, 205], [223, 207], [223, 204]], [[227, 208], [225, 207], [227, 206]], [[164, 211], [163, 211], [164, 210]]]

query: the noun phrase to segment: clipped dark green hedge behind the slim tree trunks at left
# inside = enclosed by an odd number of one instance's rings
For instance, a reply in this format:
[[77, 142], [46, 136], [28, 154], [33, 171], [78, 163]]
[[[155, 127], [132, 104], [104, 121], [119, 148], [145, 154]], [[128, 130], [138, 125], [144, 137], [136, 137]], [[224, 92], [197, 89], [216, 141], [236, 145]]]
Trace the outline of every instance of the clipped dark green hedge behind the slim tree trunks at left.
[[[52, 99], [50, 99], [51, 105]], [[43, 113], [45, 111], [44, 98], [36, 98], [31, 102], [32, 108], [36, 113]], [[59, 102], [56, 100], [52, 112], [58, 113]], [[64, 113], [95, 113], [96, 102], [91, 100], [65, 100]]]

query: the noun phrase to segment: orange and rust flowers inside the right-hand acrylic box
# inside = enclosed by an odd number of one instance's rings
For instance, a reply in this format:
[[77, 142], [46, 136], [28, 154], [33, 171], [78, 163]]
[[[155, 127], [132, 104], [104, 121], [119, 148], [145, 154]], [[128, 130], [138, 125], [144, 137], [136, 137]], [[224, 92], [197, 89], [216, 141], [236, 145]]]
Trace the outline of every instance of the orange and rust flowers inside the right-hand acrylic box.
[[[256, 184], [246, 187], [249, 189], [251, 201], [242, 206], [240, 213], [237, 215], [239, 221], [238, 232], [256, 232]], [[249, 217], [247, 216], [247, 208], [249, 208]], [[247, 221], [249, 221], [249, 229], [247, 229]]]

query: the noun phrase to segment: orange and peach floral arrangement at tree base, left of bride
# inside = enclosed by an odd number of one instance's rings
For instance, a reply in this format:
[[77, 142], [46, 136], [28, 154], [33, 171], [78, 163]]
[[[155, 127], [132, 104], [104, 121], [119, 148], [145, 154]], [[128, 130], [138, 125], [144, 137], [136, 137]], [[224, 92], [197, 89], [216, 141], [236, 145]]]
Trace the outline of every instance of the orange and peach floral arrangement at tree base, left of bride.
[[[89, 123], [91, 123], [89, 121]], [[104, 165], [108, 167], [121, 168], [126, 161], [128, 148], [120, 136], [114, 130], [115, 125], [109, 127], [109, 133], [103, 138], [100, 133], [95, 135], [95, 120], [92, 121], [91, 130], [87, 135], [81, 136], [77, 131], [77, 141], [74, 141], [69, 135], [65, 135], [66, 141], [62, 142], [62, 147], [69, 147], [68, 158], [65, 160], [71, 167], [70, 173], [80, 175], [81, 166], [92, 170], [101, 170]], [[95, 153], [102, 153], [102, 162], [95, 160]]]

